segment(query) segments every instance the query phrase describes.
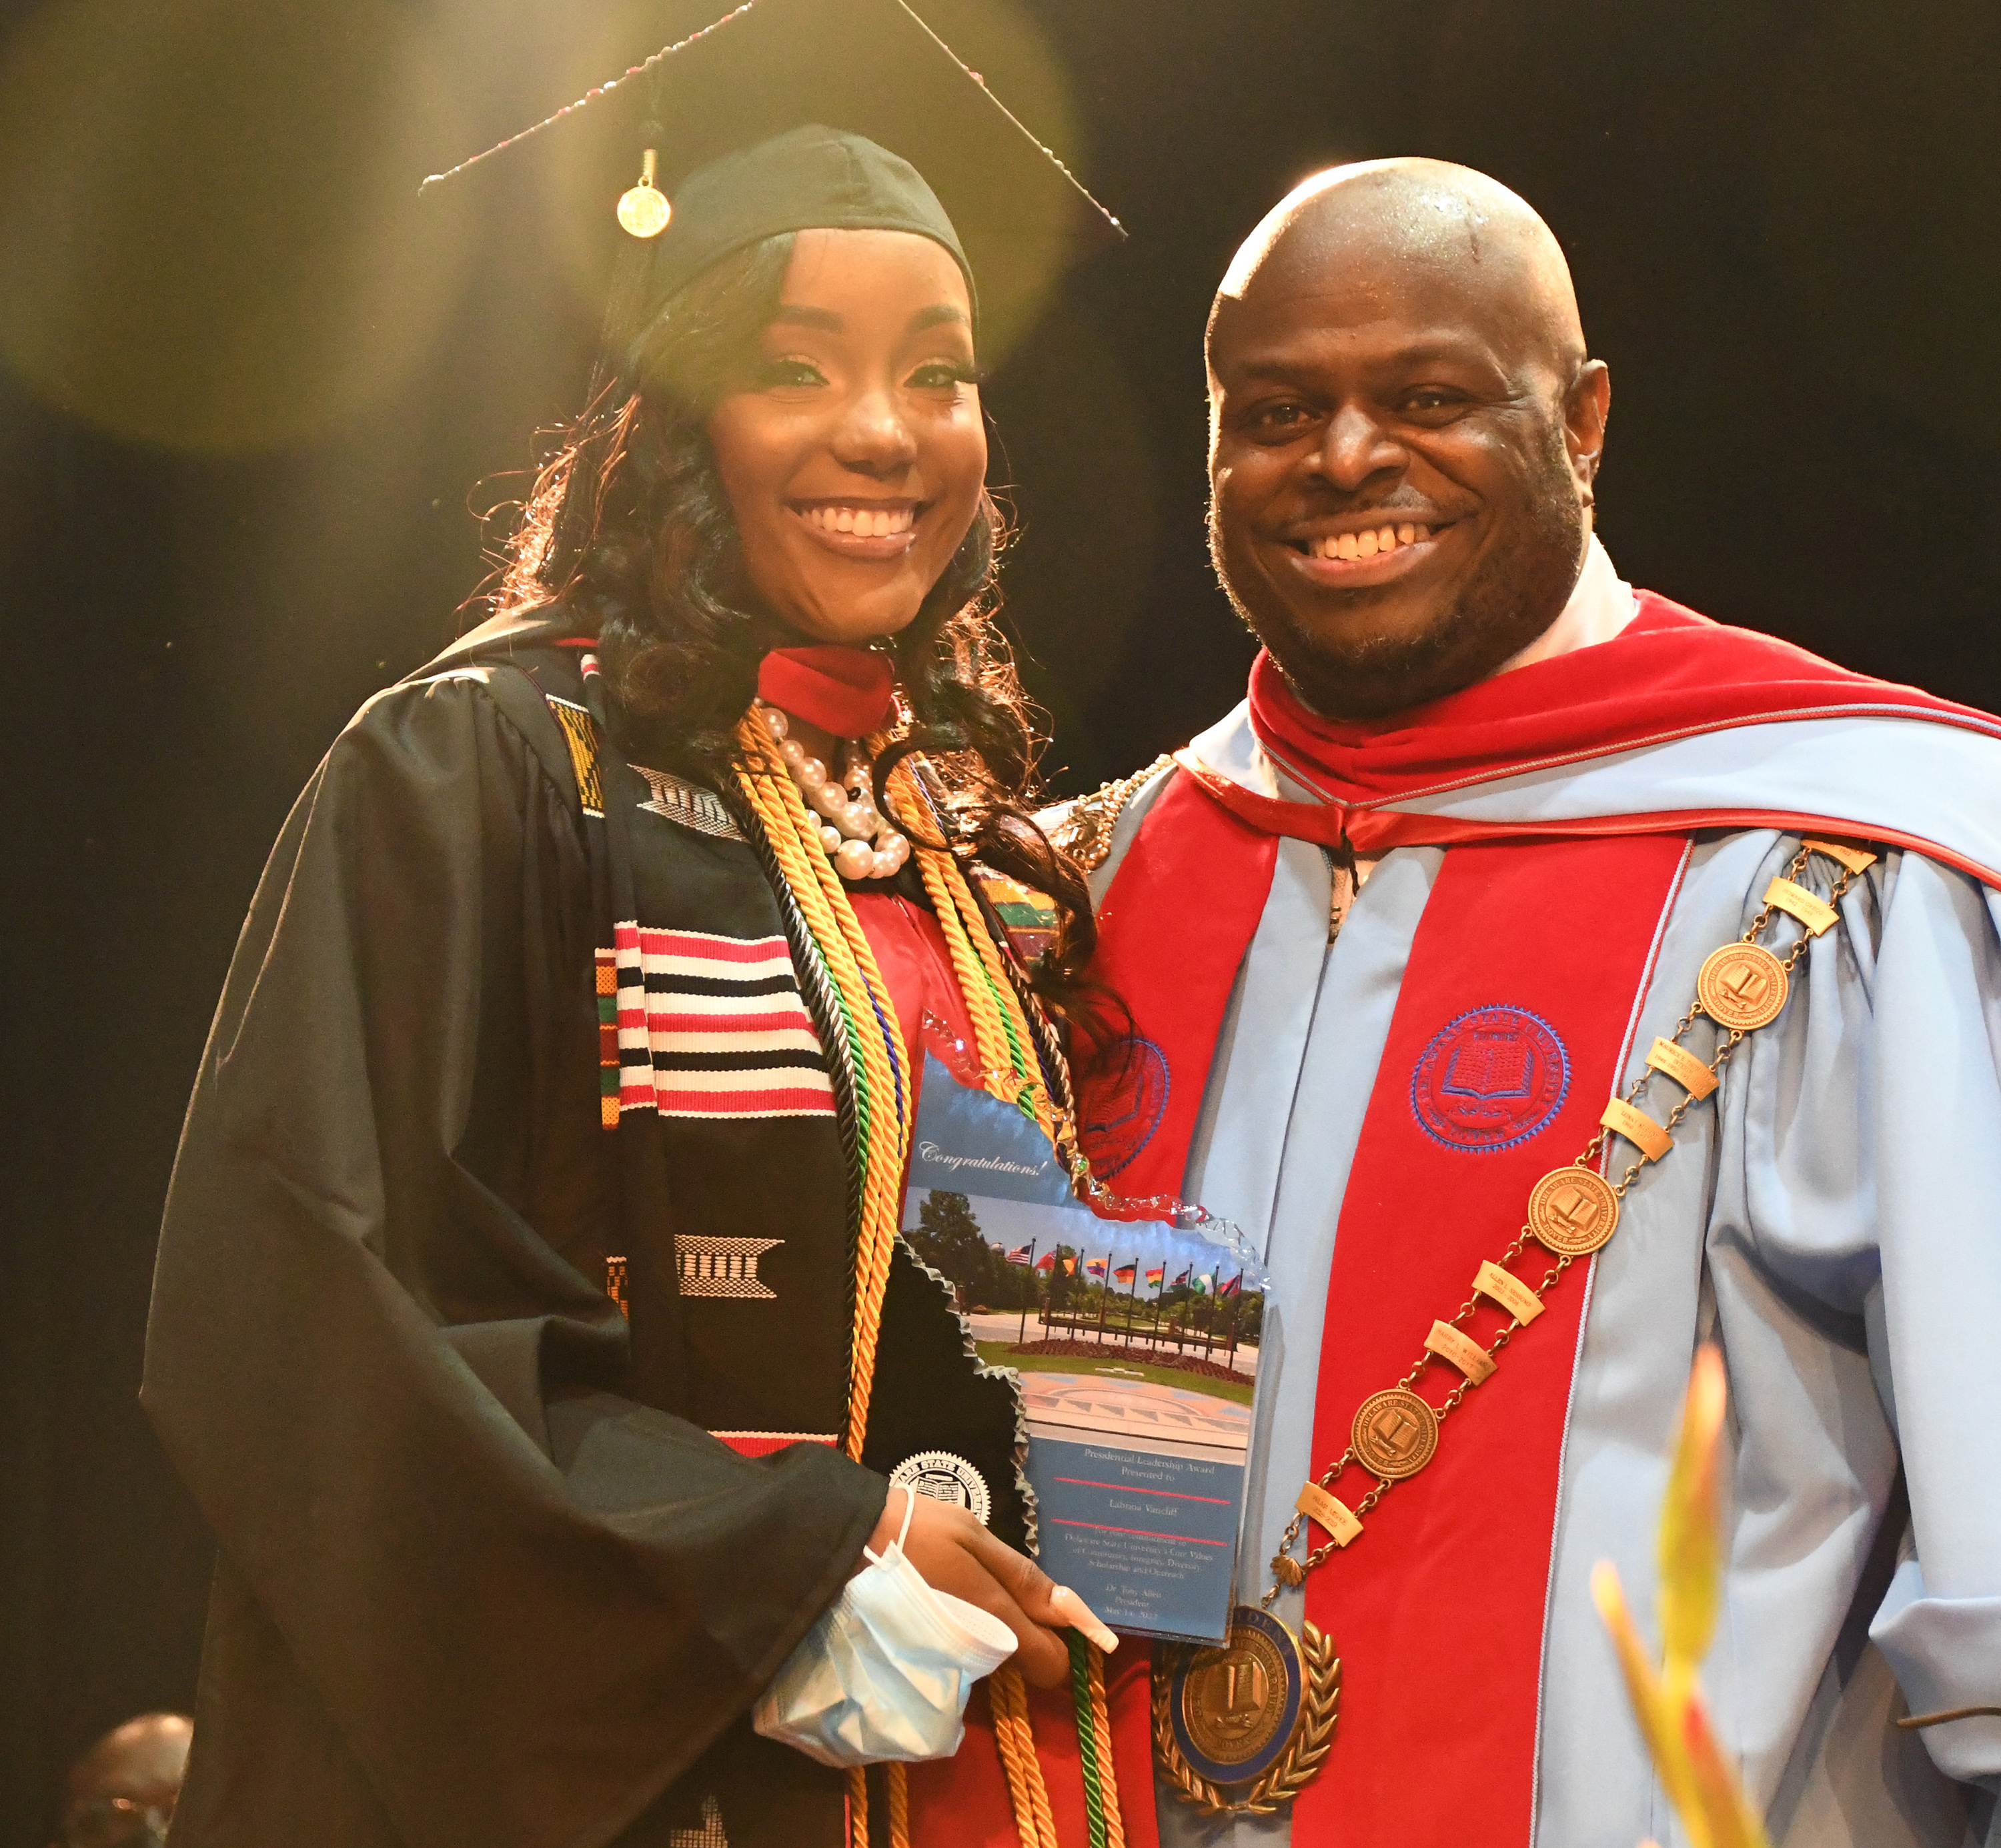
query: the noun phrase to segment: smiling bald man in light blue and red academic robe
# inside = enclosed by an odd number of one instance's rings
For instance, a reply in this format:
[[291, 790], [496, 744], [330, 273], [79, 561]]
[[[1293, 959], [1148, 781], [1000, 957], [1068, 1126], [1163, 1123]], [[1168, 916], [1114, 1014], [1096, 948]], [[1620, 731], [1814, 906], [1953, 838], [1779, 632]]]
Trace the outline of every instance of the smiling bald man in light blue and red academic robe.
[[1621, 580], [1607, 368], [1481, 174], [1295, 190], [1209, 394], [1249, 698], [1055, 822], [1145, 1078], [1099, 1172], [1273, 1272], [1237, 1596], [1323, 1724], [1341, 1670], [1313, 1770], [1277, 1658], [1163, 1650], [1163, 1840], [1683, 1842], [1589, 1578], [1651, 1612], [1713, 1340], [1773, 1840], [2001, 1842], [2001, 724]]

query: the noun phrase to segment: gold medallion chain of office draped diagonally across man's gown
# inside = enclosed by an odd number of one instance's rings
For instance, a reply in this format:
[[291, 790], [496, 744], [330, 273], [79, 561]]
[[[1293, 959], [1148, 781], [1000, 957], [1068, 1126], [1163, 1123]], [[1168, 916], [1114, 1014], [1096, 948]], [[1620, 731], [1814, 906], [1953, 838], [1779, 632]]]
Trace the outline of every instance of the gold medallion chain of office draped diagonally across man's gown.
[[[1813, 854], [1823, 854], [1841, 866], [1829, 898], [1817, 898], [1797, 884]], [[1779, 1018], [1807, 944], [1835, 924], [1839, 916], [1835, 906], [1871, 864], [1875, 854], [1859, 848], [1825, 840], [1801, 842], [1785, 874], [1765, 888], [1763, 906], [1751, 928], [1703, 962], [1695, 978], [1695, 1004], [1681, 1016], [1673, 1038], [1653, 1042], [1645, 1068], [1625, 1096], [1605, 1106], [1599, 1132], [1585, 1144], [1583, 1154], [1569, 1166], [1551, 1170], [1529, 1190], [1527, 1224], [1515, 1242], [1499, 1258], [1481, 1264], [1471, 1294], [1451, 1322], [1431, 1324], [1411, 1372], [1361, 1402], [1349, 1426], [1349, 1448], [1317, 1480], [1301, 1486], [1293, 1520], [1271, 1562], [1275, 1582], [1257, 1608], [1239, 1606], [1227, 1642], [1211, 1650], [1185, 1652], [1179, 1666], [1165, 1674], [1161, 1668], [1155, 1670], [1155, 1754], [1185, 1802], [1207, 1814], [1267, 1814], [1297, 1796], [1319, 1774], [1333, 1744], [1341, 1664], [1317, 1624], [1303, 1622], [1301, 1636], [1295, 1638], [1271, 1616], [1279, 1588], [1305, 1584], [1309, 1572], [1327, 1564], [1341, 1548], [1353, 1546], [1363, 1536], [1363, 1518], [1383, 1496], [1437, 1456], [1445, 1420], [1475, 1386], [1493, 1376], [1501, 1352], [1543, 1314], [1547, 1294], [1563, 1282], [1565, 1272], [1619, 1230], [1619, 1202], [1645, 1166], [1675, 1146], [1681, 1120], [1717, 1090], [1723, 1066], [1743, 1040]], [[1759, 942], [1777, 912], [1803, 926], [1801, 938], [1785, 958]], [[1703, 1014], [1723, 1028], [1723, 1040], [1707, 1062], [1681, 1044]], [[1655, 1074], [1673, 1078], [1683, 1090], [1667, 1122], [1655, 1122], [1639, 1108]], [[1623, 1136], [1639, 1150], [1639, 1160], [1617, 1182], [1593, 1166], [1613, 1136]], [[1509, 1268], [1531, 1240], [1557, 1260], [1533, 1288]], [[1481, 1298], [1509, 1316], [1507, 1326], [1487, 1348], [1465, 1332]], [[1459, 1374], [1459, 1384], [1437, 1406], [1415, 1390], [1435, 1360]], [[1349, 1464], [1359, 1464], [1377, 1478], [1353, 1508], [1333, 1492]], [[1293, 1544], [1309, 1518], [1329, 1538], [1301, 1560], [1293, 1556]], [[1217, 1692], [1221, 1688], [1229, 1688], [1227, 1698], [1237, 1700], [1241, 1708], [1241, 1690], [1247, 1686], [1263, 1690], [1259, 1700], [1267, 1706], [1297, 1700], [1299, 1714], [1291, 1730], [1281, 1734], [1277, 1722], [1271, 1728], [1247, 1726], [1243, 1712], [1233, 1708], [1237, 1736], [1255, 1746], [1237, 1758], [1231, 1756], [1233, 1746], [1221, 1742], [1221, 1732], [1213, 1724], [1219, 1716], [1211, 1708], [1225, 1698]]]

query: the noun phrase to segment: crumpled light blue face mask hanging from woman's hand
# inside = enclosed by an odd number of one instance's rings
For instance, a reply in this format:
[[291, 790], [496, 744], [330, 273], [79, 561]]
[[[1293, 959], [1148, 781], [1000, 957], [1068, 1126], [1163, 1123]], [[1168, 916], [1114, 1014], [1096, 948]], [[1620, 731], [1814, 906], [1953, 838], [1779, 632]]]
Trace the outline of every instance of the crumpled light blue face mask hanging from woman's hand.
[[1015, 1632], [964, 1598], [932, 1590], [902, 1550], [870, 1552], [786, 1656], [752, 1710], [764, 1738], [820, 1764], [950, 1758], [966, 1736], [966, 1696], [1015, 1654]]

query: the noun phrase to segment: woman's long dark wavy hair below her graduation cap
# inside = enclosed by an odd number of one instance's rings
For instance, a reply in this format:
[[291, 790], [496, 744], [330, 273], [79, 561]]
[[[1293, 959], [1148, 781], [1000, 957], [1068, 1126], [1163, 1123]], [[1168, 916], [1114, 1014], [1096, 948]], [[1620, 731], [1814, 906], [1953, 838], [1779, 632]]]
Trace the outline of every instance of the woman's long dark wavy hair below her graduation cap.
[[[632, 744], [722, 788], [758, 662], [802, 638], [750, 590], [704, 424], [754, 364], [790, 256], [790, 234], [726, 256], [652, 320], [626, 376], [604, 384], [558, 432], [506, 540], [494, 596], [502, 614], [560, 606], [580, 634], [596, 636]], [[1103, 996], [1083, 982], [1097, 948], [1091, 892], [1031, 812], [1037, 734], [994, 622], [1005, 534], [982, 490], [964, 542], [916, 620], [882, 644], [912, 724], [876, 764], [876, 804], [884, 804], [888, 770], [922, 752], [960, 842], [1055, 902], [1057, 940], [1031, 980], [1053, 1012], [1097, 1044], [1107, 1038]]]

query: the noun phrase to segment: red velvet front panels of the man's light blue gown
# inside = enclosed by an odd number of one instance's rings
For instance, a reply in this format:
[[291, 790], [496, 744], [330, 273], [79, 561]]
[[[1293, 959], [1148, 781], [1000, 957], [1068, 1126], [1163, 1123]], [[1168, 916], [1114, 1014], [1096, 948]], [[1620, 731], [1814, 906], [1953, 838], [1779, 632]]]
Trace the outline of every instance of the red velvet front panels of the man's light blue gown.
[[[1177, 776], [1101, 914], [1097, 970], [1157, 1070], [1141, 1106], [1099, 1104], [1127, 1194], [1181, 1192], [1229, 996], [1271, 892], [1277, 838]], [[1433, 1318], [1473, 1294], [1529, 1188], [1597, 1130], [1681, 882], [1679, 834], [1447, 850], [1411, 944], [1335, 1236], [1313, 1472], [1395, 1384]], [[1221, 1204], [1221, 1202], [1219, 1202]], [[1531, 1248], [1535, 1250], [1535, 1248]], [[1519, 1266], [1531, 1284], [1543, 1264]], [[1299, 1842], [1527, 1840], [1543, 1618], [1585, 1278], [1553, 1292], [1467, 1394], [1429, 1468], [1307, 1580], [1343, 1662], [1341, 1724], [1297, 1798]], [[1501, 1320], [1483, 1306], [1483, 1344]], [[1439, 1404], [1443, 1362], [1419, 1382]], [[1369, 1480], [1335, 1492], [1351, 1506]], [[1309, 1542], [1327, 1536], [1309, 1528]], [[1245, 1582], [1271, 1582], [1267, 1560]]]

